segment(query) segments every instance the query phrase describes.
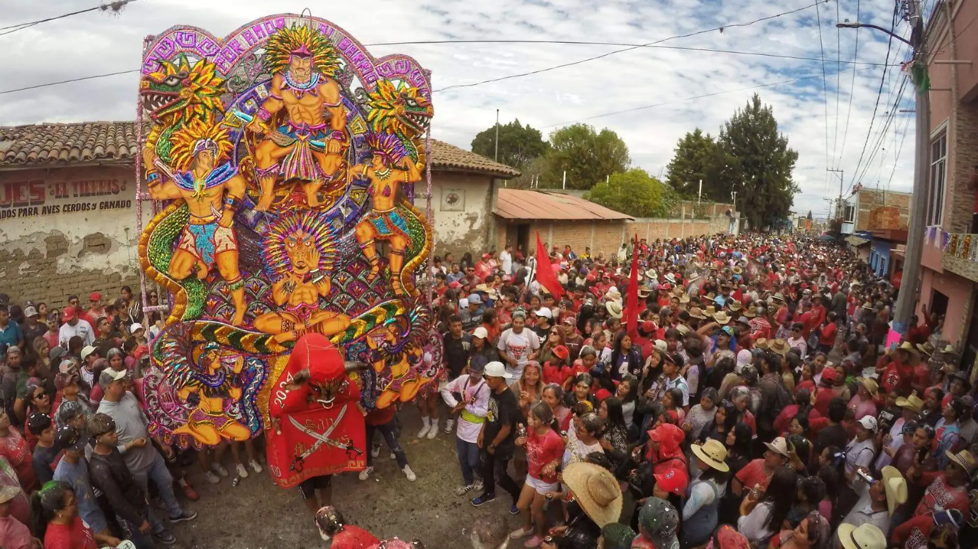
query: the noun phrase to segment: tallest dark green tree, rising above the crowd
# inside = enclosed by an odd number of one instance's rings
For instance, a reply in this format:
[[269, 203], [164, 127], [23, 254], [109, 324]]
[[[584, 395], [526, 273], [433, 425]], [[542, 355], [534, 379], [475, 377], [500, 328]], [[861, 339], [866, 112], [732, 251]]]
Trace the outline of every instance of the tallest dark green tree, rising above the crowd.
[[717, 144], [728, 160], [720, 187], [737, 192], [737, 209], [752, 229], [775, 226], [788, 217], [798, 186], [791, 179], [798, 152], [778, 133], [771, 106], [757, 94], [738, 108], [720, 131]]

